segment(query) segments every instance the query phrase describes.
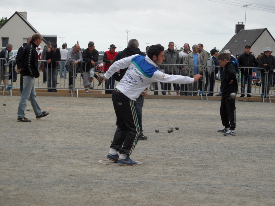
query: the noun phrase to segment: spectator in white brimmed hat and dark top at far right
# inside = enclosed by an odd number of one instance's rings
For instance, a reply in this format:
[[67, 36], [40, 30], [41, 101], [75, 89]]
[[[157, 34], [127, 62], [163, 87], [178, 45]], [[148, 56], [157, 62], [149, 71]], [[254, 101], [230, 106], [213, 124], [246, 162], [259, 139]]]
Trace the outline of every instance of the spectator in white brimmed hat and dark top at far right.
[[264, 82], [265, 81], [265, 76], [266, 76], [266, 73], [264, 70], [262, 70], [261, 72], [261, 80], [262, 80], [262, 94], [264, 94], [264, 97], [266, 97], [266, 94], [269, 93], [269, 88], [271, 86], [271, 82], [272, 82], [272, 79], [273, 79], [273, 70], [275, 68], [275, 57], [271, 55], [272, 53], [272, 50], [269, 48], [269, 47], [266, 47], [264, 49], [264, 54], [260, 57], [260, 60], [259, 60], [259, 67], [260, 68], [263, 68], [266, 70], [267, 73], [267, 90], [265, 92], [265, 86], [264, 86]]

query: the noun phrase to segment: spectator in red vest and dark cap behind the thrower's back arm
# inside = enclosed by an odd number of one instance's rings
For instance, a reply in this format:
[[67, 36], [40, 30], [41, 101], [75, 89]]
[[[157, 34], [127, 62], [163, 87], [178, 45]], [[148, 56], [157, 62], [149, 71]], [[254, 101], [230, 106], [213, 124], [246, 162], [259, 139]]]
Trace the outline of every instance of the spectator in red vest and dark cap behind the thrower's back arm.
[[[115, 56], [117, 56], [117, 52], [115, 51], [117, 47], [115, 47], [114, 44], [111, 44], [109, 47], [109, 51], [105, 51], [103, 55], [103, 62], [104, 64], [104, 72], [107, 72], [111, 64], [113, 63], [113, 60], [115, 59]], [[115, 88], [115, 78], [112, 76], [107, 81], [105, 81], [105, 89], [114, 89]], [[105, 94], [112, 94], [113, 90], [105, 90]]]

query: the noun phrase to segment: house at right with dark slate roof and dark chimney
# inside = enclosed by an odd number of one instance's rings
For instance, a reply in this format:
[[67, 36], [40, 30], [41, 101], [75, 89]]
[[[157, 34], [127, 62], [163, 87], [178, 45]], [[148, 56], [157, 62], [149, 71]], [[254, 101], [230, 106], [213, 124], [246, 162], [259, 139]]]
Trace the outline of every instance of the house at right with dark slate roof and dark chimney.
[[275, 39], [270, 34], [267, 28], [263, 29], [244, 29], [245, 25], [242, 22], [236, 24], [235, 35], [220, 51], [231, 49], [232, 54], [243, 54], [245, 45], [251, 46], [251, 52], [256, 55], [263, 54], [266, 47], [270, 47], [272, 51], [275, 49]]

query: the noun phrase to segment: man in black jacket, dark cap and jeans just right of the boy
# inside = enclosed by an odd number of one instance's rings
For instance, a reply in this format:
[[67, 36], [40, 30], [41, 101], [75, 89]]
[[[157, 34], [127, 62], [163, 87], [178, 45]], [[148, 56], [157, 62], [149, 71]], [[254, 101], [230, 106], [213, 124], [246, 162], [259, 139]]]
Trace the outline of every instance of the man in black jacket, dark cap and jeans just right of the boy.
[[[250, 53], [251, 46], [245, 45], [245, 53], [241, 54], [238, 58], [239, 67], [255, 67], [258, 62], [253, 54]], [[253, 65], [254, 64], [254, 65]], [[241, 68], [241, 93], [245, 92], [245, 82], [247, 83], [247, 97], [251, 97], [251, 84], [252, 84], [253, 68]], [[241, 94], [244, 97], [244, 94]]]

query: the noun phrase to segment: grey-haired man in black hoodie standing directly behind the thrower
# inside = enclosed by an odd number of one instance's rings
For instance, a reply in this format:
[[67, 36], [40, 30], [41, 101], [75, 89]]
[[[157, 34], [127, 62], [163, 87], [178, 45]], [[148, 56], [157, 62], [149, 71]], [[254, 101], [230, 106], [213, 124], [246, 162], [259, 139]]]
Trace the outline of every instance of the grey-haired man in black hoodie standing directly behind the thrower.
[[[146, 56], [146, 54], [144, 54], [144, 52], [140, 51], [140, 49], [138, 48], [138, 41], [136, 39], [130, 39], [128, 42], [128, 46], [127, 48], [125, 48], [123, 51], [120, 51], [117, 56], [115, 56], [115, 59], [113, 60], [113, 63], [115, 63], [118, 60], [121, 60], [125, 57], [128, 56], [132, 56], [135, 54], [139, 54], [142, 56]], [[113, 64], [112, 63], [112, 64]], [[113, 74], [113, 77], [115, 78], [116, 81], [120, 81], [122, 79], [122, 77], [124, 76], [125, 72], [127, 71], [128, 68], [121, 68], [120, 70], [120, 75], [116, 72], [115, 74]], [[143, 107], [143, 103], [144, 103], [144, 96], [147, 94], [147, 91], [145, 94], [140, 94], [140, 96], [137, 98], [137, 105], [140, 108], [141, 114], [142, 114], [142, 107]], [[141, 123], [142, 124], [142, 115], [141, 115]], [[140, 135], [139, 140], [147, 140], [147, 136], [144, 136], [144, 134], [142, 133]]]

